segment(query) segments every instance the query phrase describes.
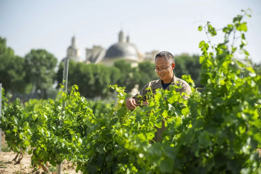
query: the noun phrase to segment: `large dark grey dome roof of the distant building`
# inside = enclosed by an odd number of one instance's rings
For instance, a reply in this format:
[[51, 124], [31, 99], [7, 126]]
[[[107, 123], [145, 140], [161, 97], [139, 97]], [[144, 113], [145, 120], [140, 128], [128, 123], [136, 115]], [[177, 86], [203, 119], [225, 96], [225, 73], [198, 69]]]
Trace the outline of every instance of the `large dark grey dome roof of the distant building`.
[[132, 61], [139, 61], [138, 52], [135, 45], [131, 43], [119, 42], [116, 43], [107, 50], [104, 59], [116, 59], [123, 58]]

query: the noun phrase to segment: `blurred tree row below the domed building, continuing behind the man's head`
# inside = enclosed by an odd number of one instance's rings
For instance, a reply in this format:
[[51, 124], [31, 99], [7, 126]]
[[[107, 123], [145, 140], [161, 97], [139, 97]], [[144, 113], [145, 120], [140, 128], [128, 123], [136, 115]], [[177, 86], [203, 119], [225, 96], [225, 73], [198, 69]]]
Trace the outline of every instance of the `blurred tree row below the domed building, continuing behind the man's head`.
[[[177, 65], [174, 73], [181, 78], [183, 74], [191, 74], [197, 87], [200, 86], [200, 64], [198, 56], [181, 55], [175, 57]], [[130, 63], [119, 60], [114, 66], [108, 67], [100, 64], [83, 64], [69, 62], [69, 86], [77, 84], [79, 92], [85, 97], [106, 97], [107, 85], [117, 84], [125, 86], [126, 92], [131, 92], [134, 86], [139, 85], [139, 89], [146, 83], [158, 79], [157, 74], [153, 71], [154, 63], [141, 62], [138, 67], [131, 67]], [[63, 64], [59, 66], [56, 80], [61, 83], [63, 77]], [[59, 86], [58, 86], [59, 87]]]

